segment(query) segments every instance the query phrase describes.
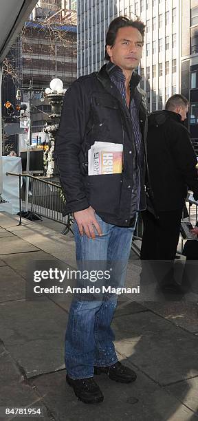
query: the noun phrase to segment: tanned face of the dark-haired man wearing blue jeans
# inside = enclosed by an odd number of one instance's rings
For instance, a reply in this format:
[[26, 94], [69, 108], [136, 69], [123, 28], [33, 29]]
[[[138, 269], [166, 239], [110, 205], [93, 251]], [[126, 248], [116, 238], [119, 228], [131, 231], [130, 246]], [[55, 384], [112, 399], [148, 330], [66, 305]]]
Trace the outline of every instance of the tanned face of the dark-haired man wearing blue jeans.
[[135, 69], [142, 57], [142, 35], [136, 28], [128, 26], [117, 32], [113, 47], [107, 45], [107, 53], [111, 61], [122, 70]]

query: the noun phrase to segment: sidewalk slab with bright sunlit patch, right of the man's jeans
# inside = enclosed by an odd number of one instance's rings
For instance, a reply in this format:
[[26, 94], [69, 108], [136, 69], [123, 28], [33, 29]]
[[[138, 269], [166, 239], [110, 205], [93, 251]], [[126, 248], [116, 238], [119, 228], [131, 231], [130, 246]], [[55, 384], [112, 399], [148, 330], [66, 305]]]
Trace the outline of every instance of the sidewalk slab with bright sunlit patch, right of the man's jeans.
[[198, 375], [198, 337], [152, 312], [113, 319], [115, 347], [161, 385]]

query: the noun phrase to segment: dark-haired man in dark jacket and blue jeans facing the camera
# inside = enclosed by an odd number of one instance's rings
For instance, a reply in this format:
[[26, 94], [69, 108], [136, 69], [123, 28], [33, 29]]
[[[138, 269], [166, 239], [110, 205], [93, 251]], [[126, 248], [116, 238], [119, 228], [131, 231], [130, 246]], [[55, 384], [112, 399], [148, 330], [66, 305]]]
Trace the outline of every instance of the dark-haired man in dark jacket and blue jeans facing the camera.
[[[146, 100], [137, 87], [144, 24], [118, 17], [109, 25], [100, 72], [76, 80], [65, 94], [56, 158], [74, 213], [77, 261], [128, 261], [137, 211], [145, 208]], [[122, 172], [89, 175], [88, 151], [96, 141], [123, 145]], [[65, 337], [67, 382], [83, 402], [101, 402], [94, 374], [118, 382], [136, 374], [115, 354], [111, 321], [116, 300], [73, 301]]]

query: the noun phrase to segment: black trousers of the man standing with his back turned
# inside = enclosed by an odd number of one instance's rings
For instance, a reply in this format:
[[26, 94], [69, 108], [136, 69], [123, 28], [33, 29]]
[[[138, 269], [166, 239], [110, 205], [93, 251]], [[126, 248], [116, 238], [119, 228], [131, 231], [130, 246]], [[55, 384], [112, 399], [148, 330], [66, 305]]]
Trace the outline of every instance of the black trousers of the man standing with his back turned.
[[[182, 209], [163, 211], [159, 212], [159, 219], [155, 219], [148, 210], [142, 212], [142, 290], [147, 290], [149, 284], [163, 287], [175, 283], [173, 263], [179, 241], [181, 214]], [[148, 301], [153, 299], [153, 296], [148, 296]]]

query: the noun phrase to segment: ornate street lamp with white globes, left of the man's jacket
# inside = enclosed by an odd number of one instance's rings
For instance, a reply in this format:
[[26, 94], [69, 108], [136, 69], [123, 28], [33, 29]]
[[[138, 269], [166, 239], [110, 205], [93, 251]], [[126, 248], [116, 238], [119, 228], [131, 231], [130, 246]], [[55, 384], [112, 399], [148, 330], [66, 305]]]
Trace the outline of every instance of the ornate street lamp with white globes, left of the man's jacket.
[[50, 88], [45, 89], [45, 98], [49, 100], [52, 107], [52, 114], [50, 115], [51, 124], [44, 128], [45, 133], [49, 133], [49, 149], [45, 151], [45, 162], [47, 167], [47, 177], [53, 177], [54, 169], [54, 143], [55, 133], [58, 130], [59, 121], [61, 117], [61, 109], [63, 105], [63, 98], [67, 89], [63, 89], [63, 82], [61, 79], [54, 78], [50, 82]]

